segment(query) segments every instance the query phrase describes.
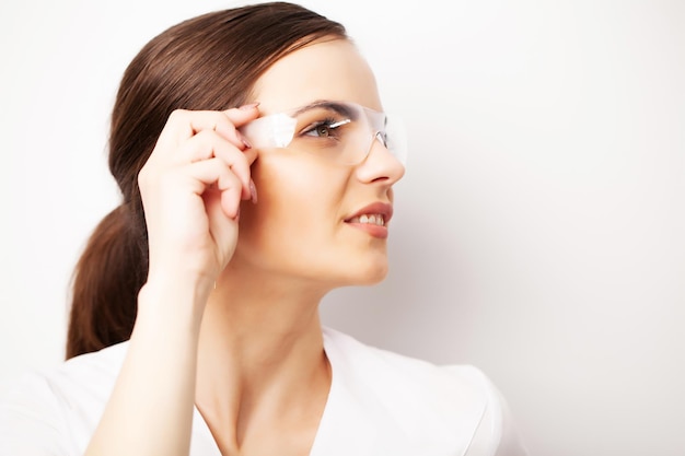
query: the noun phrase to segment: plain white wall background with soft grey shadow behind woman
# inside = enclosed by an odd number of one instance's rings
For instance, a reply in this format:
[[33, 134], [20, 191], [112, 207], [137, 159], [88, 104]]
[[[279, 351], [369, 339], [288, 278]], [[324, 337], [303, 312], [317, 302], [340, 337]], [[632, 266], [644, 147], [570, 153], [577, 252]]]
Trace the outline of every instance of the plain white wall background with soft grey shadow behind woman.
[[[71, 269], [117, 204], [108, 113], [167, 26], [230, 1], [0, 5], [0, 385], [62, 359]], [[685, 2], [304, 2], [408, 125], [392, 270], [328, 325], [481, 367], [531, 453], [685, 454]]]

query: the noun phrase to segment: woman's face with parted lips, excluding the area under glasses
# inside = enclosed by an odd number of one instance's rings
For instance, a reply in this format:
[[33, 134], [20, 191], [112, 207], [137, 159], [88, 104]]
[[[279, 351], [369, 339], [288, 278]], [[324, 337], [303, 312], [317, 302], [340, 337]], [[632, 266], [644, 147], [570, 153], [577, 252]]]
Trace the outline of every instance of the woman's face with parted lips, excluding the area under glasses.
[[[254, 100], [263, 116], [321, 102], [383, 110], [369, 66], [341, 39], [317, 42], [276, 62], [259, 78]], [[326, 136], [334, 130], [325, 126], [303, 133], [322, 120], [316, 116], [300, 116], [300, 140], [288, 149], [258, 149], [252, 167], [258, 202], [241, 208], [232, 262], [324, 288], [378, 282], [387, 271], [392, 186], [404, 166], [379, 140], [358, 164], [303, 150], [333, 141]]]

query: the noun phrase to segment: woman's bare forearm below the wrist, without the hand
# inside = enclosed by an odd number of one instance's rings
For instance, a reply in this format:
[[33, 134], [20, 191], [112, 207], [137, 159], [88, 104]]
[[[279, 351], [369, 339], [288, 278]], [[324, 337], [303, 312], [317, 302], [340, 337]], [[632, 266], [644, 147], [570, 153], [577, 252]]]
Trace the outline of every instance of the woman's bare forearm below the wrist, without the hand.
[[86, 456], [187, 456], [206, 291], [183, 281], [140, 292], [128, 352]]

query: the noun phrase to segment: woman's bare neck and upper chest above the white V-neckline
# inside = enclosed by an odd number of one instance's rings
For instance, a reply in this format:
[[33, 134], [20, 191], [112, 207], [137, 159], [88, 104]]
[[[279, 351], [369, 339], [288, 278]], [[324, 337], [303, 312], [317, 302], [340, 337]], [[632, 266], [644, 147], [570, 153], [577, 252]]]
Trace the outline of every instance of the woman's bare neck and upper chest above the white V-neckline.
[[323, 294], [236, 271], [217, 283], [200, 328], [196, 404], [210, 429], [235, 430], [229, 446], [271, 419], [323, 412], [330, 385]]

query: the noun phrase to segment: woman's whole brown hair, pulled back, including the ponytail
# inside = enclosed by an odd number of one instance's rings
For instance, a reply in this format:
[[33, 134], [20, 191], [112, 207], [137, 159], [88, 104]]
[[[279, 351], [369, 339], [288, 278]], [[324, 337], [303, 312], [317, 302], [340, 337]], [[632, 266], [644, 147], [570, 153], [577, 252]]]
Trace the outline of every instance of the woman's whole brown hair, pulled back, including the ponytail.
[[148, 273], [138, 173], [169, 115], [244, 104], [269, 66], [325, 36], [348, 39], [342, 25], [300, 5], [262, 3], [182, 22], [133, 58], [109, 132], [109, 171], [123, 202], [100, 222], [74, 269], [67, 359], [130, 337]]

